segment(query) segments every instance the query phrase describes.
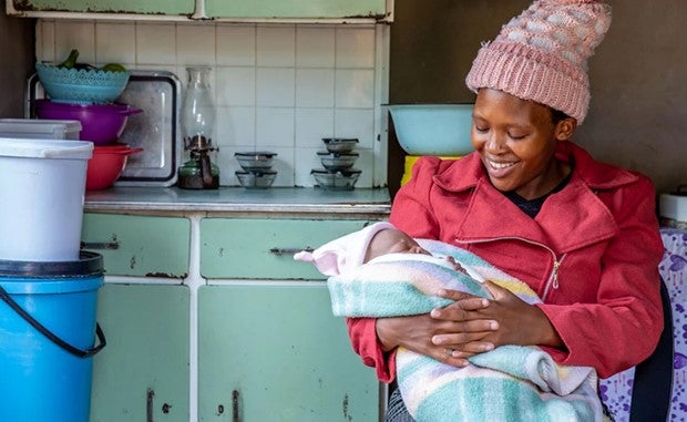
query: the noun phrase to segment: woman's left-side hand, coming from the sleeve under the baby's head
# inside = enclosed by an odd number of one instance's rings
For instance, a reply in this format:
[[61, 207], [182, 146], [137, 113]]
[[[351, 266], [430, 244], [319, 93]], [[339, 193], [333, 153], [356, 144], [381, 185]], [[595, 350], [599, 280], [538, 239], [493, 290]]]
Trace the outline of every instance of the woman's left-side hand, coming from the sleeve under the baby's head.
[[[481, 299], [460, 291], [452, 291], [452, 298], [460, 297], [457, 305], [465, 312], [476, 312], [490, 306], [486, 299]], [[457, 299], [454, 299], [457, 300]], [[448, 308], [448, 307], [447, 307]], [[447, 308], [443, 308], [444, 310]], [[472, 321], [455, 321], [451, 319], [433, 318], [419, 315], [412, 317], [379, 318], [377, 319], [377, 337], [384, 351], [402, 346], [417, 353], [434, 358], [454, 367], [468, 364], [465, 358], [491, 350], [491, 343], [481, 341], [493, 330], [493, 321], [481, 318]], [[452, 343], [435, 343], [432, 339], [451, 333], [464, 344], [459, 350]]]

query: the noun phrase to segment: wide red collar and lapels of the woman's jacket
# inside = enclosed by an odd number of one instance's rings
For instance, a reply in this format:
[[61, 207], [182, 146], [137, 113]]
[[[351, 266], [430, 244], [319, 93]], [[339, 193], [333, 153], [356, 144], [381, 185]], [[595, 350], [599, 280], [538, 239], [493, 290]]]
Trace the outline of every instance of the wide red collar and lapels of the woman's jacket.
[[[455, 239], [472, 243], [521, 238], [566, 253], [617, 233], [613, 214], [596, 193], [632, 183], [637, 176], [595, 162], [587, 152], [570, 142], [558, 144], [556, 156], [574, 164], [573, 177], [563, 191], [546, 199], [534, 219], [491, 185], [476, 153], [435, 175], [434, 182], [445, 192], [471, 191], [468, 210], [455, 227]], [[561, 209], [566, 212], [561, 213]]]

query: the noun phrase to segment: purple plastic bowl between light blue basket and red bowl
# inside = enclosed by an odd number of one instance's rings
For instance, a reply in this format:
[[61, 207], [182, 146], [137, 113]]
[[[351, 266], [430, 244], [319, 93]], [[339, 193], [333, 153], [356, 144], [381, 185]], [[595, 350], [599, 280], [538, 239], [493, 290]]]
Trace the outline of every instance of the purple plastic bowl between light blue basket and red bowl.
[[55, 103], [50, 100], [35, 101], [35, 115], [49, 120], [78, 120], [81, 122], [81, 141], [91, 141], [95, 145], [106, 145], [122, 135], [126, 120], [132, 114], [141, 113], [129, 104], [72, 104]]

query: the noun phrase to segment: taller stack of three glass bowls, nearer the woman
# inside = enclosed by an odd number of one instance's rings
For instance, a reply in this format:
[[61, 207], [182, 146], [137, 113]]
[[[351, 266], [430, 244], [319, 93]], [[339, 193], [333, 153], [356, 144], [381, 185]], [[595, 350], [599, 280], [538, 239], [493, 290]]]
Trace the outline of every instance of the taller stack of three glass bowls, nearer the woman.
[[312, 168], [310, 174], [324, 189], [350, 191], [356, 186], [361, 171], [353, 168], [360, 156], [353, 150], [358, 140], [353, 137], [324, 137], [327, 151], [317, 153], [322, 167]]

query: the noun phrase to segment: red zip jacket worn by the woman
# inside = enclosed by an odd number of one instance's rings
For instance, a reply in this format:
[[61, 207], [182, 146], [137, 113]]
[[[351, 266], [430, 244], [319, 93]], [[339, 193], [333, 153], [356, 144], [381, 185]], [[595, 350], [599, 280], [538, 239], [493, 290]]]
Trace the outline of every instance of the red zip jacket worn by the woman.
[[[595, 162], [560, 143], [573, 176], [532, 219], [496, 191], [480, 157], [424, 157], [397, 194], [390, 220], [417, 238], [466, 248], [525, 281], [543, 299], [567, 350], [547, 349], [564, 364], [596, 368], [602, 378], [646, 359], [663, 330], [658, 263], [663, 244], [648, 178]], [[353, 349], [394, 378], [375, 320], [348, 319]]]

